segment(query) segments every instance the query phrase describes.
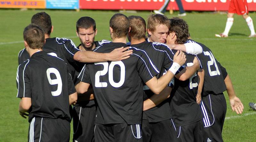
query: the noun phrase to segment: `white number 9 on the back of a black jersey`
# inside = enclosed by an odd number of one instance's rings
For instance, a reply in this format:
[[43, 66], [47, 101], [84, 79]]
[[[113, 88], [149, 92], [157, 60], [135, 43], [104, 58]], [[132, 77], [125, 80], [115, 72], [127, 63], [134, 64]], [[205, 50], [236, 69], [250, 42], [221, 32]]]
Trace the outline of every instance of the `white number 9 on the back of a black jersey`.
[[[51, 79], [51, 76], [50, 76], [51, 73], [56, 75], [56, 79]], [[61, 81], [61, 77], [60, 77], [60, 72], [56, 68], [51, 67], [46, 70], [46, 75], [47, 75], [47, 79], [51, 85], [58, 84], [57, 90], [52, 91], [52, 96], [59, 96], [62, 91], [62, 81]]]

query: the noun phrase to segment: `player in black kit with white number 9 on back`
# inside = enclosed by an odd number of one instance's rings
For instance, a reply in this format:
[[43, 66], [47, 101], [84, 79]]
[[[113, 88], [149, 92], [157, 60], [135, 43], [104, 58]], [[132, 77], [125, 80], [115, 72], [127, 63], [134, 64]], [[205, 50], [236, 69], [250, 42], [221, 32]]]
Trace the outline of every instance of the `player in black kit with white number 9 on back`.
[[67, 64], [42, 51], [44, 32], [38, 26], [28, 25], [23, 38], [31, 58], [18, 67], [17, 97], [21, 98], [20, 115], [27, 115], [30, 123], [28, 141], [68, 142], [69, 106], [77, 94]]

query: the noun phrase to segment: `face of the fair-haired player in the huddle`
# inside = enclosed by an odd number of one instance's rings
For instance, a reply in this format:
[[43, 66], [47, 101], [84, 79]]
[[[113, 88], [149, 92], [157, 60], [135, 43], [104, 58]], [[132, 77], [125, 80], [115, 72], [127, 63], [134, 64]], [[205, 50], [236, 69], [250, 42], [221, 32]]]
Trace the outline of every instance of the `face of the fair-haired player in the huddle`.
[[148, 31], [152, 42], [160, 42], [160, 43], [166, 42], [168, 32], [169, 32], [169, 28], [167, 27], [167, 25], [163, 25], [163, 24], [157, 25], [155, 32]]

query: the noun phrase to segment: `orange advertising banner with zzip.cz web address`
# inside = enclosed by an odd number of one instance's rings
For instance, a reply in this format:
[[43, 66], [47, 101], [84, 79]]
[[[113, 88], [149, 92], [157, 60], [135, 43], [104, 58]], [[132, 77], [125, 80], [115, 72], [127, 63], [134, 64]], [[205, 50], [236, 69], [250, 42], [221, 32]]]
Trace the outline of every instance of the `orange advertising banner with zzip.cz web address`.
[[0, 0], [0, 8], [45, 9], [45, 0]]

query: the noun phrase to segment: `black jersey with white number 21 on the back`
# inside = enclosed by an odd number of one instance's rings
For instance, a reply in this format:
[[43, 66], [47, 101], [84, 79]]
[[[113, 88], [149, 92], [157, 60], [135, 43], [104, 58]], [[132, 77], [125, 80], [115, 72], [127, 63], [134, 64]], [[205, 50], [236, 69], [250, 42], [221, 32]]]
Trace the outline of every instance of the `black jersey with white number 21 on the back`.
[[204, 44], [195, 42], [193, 40], [188, 40], [187, 42], [194, 42], [202, 46], [203, 53], [197, 55], [199, 58], [204, 60], [204, 87], [202, 90], [202, 96], [207, 96], [209, 94], [221, 94], [226, 90], [226, 85], [223, 80], [222, 66], [215, 59], [212, 51], [206, 47]]

